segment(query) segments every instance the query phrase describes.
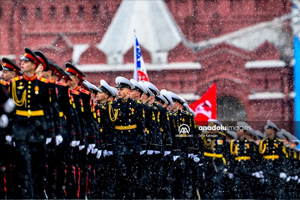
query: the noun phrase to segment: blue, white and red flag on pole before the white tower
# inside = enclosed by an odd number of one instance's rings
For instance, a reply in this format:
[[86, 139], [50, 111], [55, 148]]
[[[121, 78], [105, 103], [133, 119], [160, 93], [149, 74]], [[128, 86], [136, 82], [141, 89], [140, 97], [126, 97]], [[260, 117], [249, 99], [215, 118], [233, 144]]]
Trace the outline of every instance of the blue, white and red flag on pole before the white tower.
[[133, 79], [136, 81], [149, 81], [146, 66], [142, 56], [137, 36], [134, 36], [134, 74]]

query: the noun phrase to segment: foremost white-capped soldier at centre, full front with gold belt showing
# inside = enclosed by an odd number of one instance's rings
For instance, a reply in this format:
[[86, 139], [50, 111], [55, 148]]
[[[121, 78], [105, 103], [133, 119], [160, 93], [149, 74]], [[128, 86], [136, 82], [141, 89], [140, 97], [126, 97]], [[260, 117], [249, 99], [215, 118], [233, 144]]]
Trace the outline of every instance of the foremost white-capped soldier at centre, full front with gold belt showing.
[[[129, 98], [129, 90], [134, 85], [124, 77], [116, 78], [119, 99], [109, 103], [110, 120], [114, 131], [107, 144], [109, 154], [113, 154], [114, 198], [133, 199], [137, 178], [137, 156], [145, 140], [145, 112], [140, 101]], [[145, 146], [145, 145], [144, 145]]]

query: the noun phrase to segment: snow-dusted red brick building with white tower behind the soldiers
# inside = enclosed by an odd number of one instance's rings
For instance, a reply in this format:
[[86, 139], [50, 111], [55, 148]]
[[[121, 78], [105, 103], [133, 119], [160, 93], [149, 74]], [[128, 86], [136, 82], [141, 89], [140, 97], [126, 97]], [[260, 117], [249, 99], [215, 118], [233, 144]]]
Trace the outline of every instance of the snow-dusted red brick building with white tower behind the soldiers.
[[95, 85], [115, 85], [116, 76], [133, 77], [134, 27], [159, 89], [191, 103], [215, 82], [220, 120], [294, 119], [290, 1], [25, 0], [0, 7], [1, 58], [19, 62], [28, 46], [61, 66], [75, 63]]

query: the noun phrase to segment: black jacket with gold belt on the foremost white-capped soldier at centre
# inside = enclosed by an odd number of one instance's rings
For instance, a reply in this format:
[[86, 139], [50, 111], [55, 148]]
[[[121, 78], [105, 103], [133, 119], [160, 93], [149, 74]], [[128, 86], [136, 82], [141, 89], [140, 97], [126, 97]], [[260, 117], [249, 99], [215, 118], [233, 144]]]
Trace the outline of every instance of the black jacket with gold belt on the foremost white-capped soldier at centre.
[[123, 155], [142, 151], [141, 141], [146, 144], [142, 103], [129, 97], [114, 100], [109, 103], [109, 115], [114, 131], [110, 134], [107, 150]]

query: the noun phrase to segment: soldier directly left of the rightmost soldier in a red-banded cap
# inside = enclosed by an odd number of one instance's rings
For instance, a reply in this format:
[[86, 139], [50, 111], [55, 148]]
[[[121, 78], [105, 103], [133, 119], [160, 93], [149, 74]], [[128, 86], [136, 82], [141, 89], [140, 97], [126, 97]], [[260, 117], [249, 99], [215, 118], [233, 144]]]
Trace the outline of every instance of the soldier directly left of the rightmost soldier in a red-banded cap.
[[[79, 145], [81, 129], [71, 89], [64, 82], [70, 77], [56, 63], [49, 61], [50, 69], [57, 76], [55, 87], [57, 88], [59, 116], [62, 124], [63, 141], [55, 149], [56, 187], [55, 195], [59, 199], [76, 199], [75, 172], [73, 165], [73, 148]], [[74, 104], [75, 106], [75, 104]], [[77, 137], [76, 137], [77, 136]], [[79, 136], [79, 137], [78, 137]], [[78, 140], [76, 145], [76, 139]], [[76, 163], [75, 163], [76, 164]]]

